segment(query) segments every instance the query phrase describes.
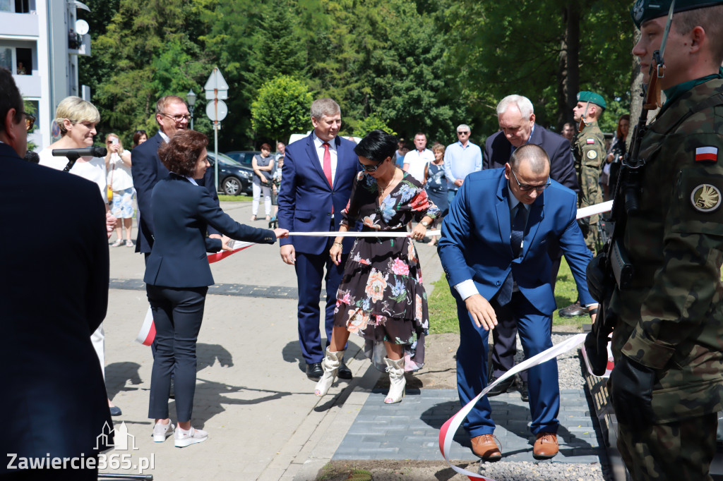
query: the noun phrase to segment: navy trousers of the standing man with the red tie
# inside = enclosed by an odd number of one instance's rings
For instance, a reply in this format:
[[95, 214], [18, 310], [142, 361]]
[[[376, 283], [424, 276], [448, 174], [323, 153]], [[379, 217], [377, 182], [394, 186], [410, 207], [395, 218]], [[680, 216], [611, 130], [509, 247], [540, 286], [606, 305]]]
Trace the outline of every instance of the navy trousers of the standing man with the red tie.
[[[333, 238], [329, 238], [328, 248]], [[348, 254], [341, 256], [341, 262], [335, 266], [326, 248], [321, 254], [296, 253], [296, 282], [299, 287], [299, 345], [301, 355], [307, 364], [320, 363], [324, 358], [324, 348], [321, 345], [321, 332], [319, 329], [321, 295], [321, 282], [326, 284], [326, 308], [324, 329], [326, 332], [326, 346], [331, 339], [331, 329], [334, 326], [334, 308], [336, 307], [336, 291], [341, 284], [344, 266]]]

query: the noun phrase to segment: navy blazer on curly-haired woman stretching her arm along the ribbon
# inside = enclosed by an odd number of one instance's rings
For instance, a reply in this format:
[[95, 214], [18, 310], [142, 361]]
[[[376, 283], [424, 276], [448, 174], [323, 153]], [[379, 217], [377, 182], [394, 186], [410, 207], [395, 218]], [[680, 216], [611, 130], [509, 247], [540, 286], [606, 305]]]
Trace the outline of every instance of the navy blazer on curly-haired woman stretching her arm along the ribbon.
[[257, 229], [231, 219], [203, 186], [171, 173], [153, 188], [155, 243], [146, 262], [146, 284], [164, 287], [213, 285], [206, 252], [221, 250], [221, 239], [206, 237], [212, 225], [228, 237], [273, 244], [273, 230]]

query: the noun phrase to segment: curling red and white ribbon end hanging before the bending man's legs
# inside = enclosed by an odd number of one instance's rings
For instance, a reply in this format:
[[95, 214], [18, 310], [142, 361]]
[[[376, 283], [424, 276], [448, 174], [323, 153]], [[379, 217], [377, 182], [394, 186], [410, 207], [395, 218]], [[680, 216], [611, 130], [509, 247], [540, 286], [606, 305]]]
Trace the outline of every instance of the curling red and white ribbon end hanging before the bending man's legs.
[[519, 373], [520, 371], [525, 371], [526, 369], [529, 369], [535, 365], [542, 364], [548, 360], [557, 358], [557, 356], [564, 354], [565, 352], [568, 352], [575, 347], [578, 347], [585, 341], [585, 336], [586, 334], [576, 334], [573, 337], [570, 337], [570, 339], [565, 339], [565, 341], [560, 342], [560, 344], [552, 346], [548, 350], [540, 352], [538, 355], [535, 355], [532, 358], [523, 360], [523, 362], [515, 365], [514, 368], [510, 369], [510, 371], [507, 371], [503, 376], [500, 376], [497, 381], [482, 389], [481, 393], [477, 394], [477, 396], [470, 402], [468, 402], [461, 410], [459, 410], [457, 414], [450, 417], [450, 419], [448, 419], [447, 422], [444, 423], [444, 425], [442, 425], [442, 428], [440, 429], [440, 452], [442, 453], [442, 456], [444, 457], [447, 464], [449, 464], [450, 467], [459, 474], [469, 477], [471, 481], [495, 481], [492, 478], [484, 477], [477, 473], [455, 466], [450, 462], [449, 452], [450, 447], [452, 446], [452, 439], [454, 438], [454, 435], [459, 429], [463, 420], [465, 420], [467, 415], [469, 415], [469, 412], [474, 408], [474, 405], [477, 404], [479, 399], [482, 398], [482, 396], [484, 396], [485, 394], [487, 394], [487, 391], [497, 386], [497, 384], [500, 384], [502, 381], [505, 381], [505, 379], [510, 378], [510, 376], [515, 376], [515, 374]]

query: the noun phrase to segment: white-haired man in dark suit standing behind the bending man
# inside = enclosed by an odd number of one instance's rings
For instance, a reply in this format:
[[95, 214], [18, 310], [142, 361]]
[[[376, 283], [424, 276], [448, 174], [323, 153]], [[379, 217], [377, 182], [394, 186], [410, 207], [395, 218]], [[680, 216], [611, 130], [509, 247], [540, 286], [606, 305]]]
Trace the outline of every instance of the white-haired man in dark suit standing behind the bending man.
[[[550, 162], [549, 177], [563, 186], [578, 191], [578, 178], [575, 172], [575, 160], [570, 149], [570, 142], [565, 137], [555, 134], [535, 123], [535, 113], [532, 103], [522, 95], [508, 95], [497, 104], [497, 121], [500, 131], [487, 138], [484, 144], [485, 169], [505, 167], [510, 155], [518, 147], [525, 144], [539, 145], [547, 152]], [[557, 271], [560, 270], [562, 250], [557, 242], [552, 241], [547, 246], [550, 259], [552, 259], [552, 292], [555, 292]], [[494, 348], [492, 350], [492, 376], [498, 378], [515, 365], [517, 327], [514, 323], [500, 324], [492, 334]], [[494, 379], [493, 379], [494, 380]], [[497, 384], [489, 392], [496, 396], [507, 391], [514, 383], [515, 378]], [[523, 401], [527, 401], [529, 394], [527, 388], [527, 373], [520, 374], [520, 394]]]

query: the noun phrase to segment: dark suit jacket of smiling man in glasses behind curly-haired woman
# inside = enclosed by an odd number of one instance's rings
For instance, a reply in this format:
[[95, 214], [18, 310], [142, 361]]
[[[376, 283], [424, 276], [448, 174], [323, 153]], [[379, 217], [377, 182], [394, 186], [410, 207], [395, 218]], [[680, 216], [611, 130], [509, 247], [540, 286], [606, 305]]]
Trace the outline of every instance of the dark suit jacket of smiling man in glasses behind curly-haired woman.
[[[161, 162], [161, 158], [158, 157], [158, 147], [161, 147], [161, 144], [163, 144], [163, 137], [161, 134], [155, 134], [131, 151], [131, 173], [138, 199], [136, 252], [150, 252], [153, 247], [154, 217], [151, 208], [151, 195], [155, 184], [168, 177], [168, 169]], [[208, 187], [209, 194], [218, 205], [218, 194], [216, 194], [213, 183], [213, 169], [207, 169], [206, 175], [202, 179], [198, 179], [197, 182], [199, 185]], [[210, 229], [209, 234], [218, 234], [218, 232]]]

